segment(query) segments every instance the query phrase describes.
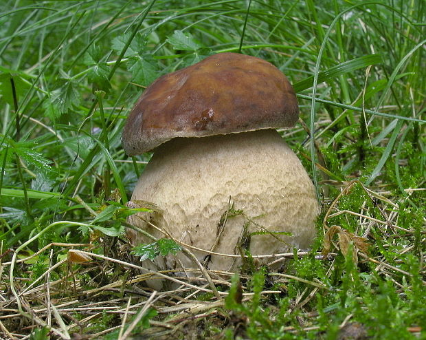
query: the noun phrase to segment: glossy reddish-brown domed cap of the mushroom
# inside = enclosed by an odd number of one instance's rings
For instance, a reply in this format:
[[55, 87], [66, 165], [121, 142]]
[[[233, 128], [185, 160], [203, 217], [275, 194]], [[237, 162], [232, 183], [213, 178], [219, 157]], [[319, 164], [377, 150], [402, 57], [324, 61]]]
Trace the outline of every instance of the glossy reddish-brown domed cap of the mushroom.
[[129, 156], [177, 137], [203, 137], [293, 127], [295, 92], [277, 67], [220, 53], [158, 78], [128, 116], [122, 142]]

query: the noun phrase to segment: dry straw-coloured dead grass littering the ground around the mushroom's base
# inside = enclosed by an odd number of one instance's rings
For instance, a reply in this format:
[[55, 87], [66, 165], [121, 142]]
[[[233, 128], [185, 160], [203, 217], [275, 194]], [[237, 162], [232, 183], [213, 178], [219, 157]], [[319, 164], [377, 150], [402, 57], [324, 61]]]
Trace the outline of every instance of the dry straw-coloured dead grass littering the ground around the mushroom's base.
[[[359, 182], [341, 183], [341, 193], [333, 202], [328, 203], [324, 214], [324, 240], [331, 243], [328, 244], [328, 254], [318, 252], [315, 259], [326, 268], [328, 276], [333, 273], [336, 255], [345, 253], [344, 249], [347, 249], [344, 237], [337, 240], [333, 235], [327, 234], [330, 231], [328, 224], [333, 217], [342, 214], [355, 217], [357, 230], [354, 233], [343, 229], [339, 229], [338, 233], [346, 233], [345, 235], [349, 235], [348, 240], [352, 241], [350, 237], [363, 237], [366, 244], [372, 242], [372, 229], [394, 235], [396, 238], [410, 237], [415, 232], [398, 225], [398, 206], [386, 198], [385, 191], [374, 192], [362, 184], [360, 185], [367, 197], [374, 200], [374, 204], [379, 207], [381, 218], [372, 217], [366, 209], [366, 204], [359, 206], [358, 211], [340, 210], [339, 200], [350, 193], [355, 184]], [[425, 234], [426, 231], [423, 231], [421, 242], [426, 242]], [[378, 275], [392, 280], [397, 287], [403, 288], [401, 275], [407, 279], [412, 276], [399, 266], [388, 264], [384, 257], [370, 257], [365, 247], [357, 247], [357, 242], [352, 244], [357, 252], [359, 266], [371, 262], [375, 265], [374, 271]], [[100, 255], [100, 246], [106, 255]], [[182, 244], [181, 246], [184, 247]], [[336, 253], [329, 253], [330, 248], [335, 248]], [[401, 249], [401, 254], [411, 248], [412, 245]], [[192, 273], [193, 277], [177, 277], [172, 270], [154, 272], [144, 268], [143, 264], [135, 264], [137, 260], [128, 255], [128, 250], [128, 244], [124, 240], [109, 237], [98, 238], [91, 244], [52, 243], [27, 256], [24, 253], [13, 254], [12, 251], [3, 250], [0, 268], [0, 327], [3, 336], [10, 339], [29, 339], [31, 332], [46, 326], [49, 328], [49, 335], [55, 339], [101, 339], [113, 331], [118, 332], [117, 339], [128, 339], [132, 330], [137, 330], [137, 336], [133, 335], [135, 339], [188, 339], [190, 336], [191, 339], [223, 339], [223, 330], [227, 328], [233, 329], [236, 335], [244, 334], [251, 320], [226, 308], [225, 303], [232, 286], [233, 273], [205, 268], [201, 270], [201, 264], [186, 268], [186, 272]], [[186, 248], [186, 251], [190, 252], [190, 249]], [[41, 254], [49, 254], [44, 259], [48, 266], [41, 275], [34, 277], [30, 273], [30, 264]], [[298, 252], [297, 255], [304, 257], [309, 253]], [[263, 257], [271, 257], [269, 263], [272, 264], [292, 259], [294, 256], [294, 253], [287, 253]], [[6, 261], [10, 257], [12, 261]], [[398, 262], [398, 259], [395, 260]], [[425, 254], [422, 255], [421, 263], [425, 275]], [[16, 273], [26, 274], [27, 277], [17, 277]], [[53, 279], [52, 273], [60, 273], [60, 277]], [[285, 295], [286, 287], [295, 281], [302, 284], [289, 310], [300, 310], [300, 328], [287, 326], [283, 328], [284, 332], [303, 334], [320, 330], [320, 326], [317, 326], [318, 312], [309, 302], [317, 294], [333, 288], [320, 278], [308, 280], [286, 272], [270, 272], [267, 275], [269, 287], [280, 287], [263, 289], [260, 293], [265, 300], [265, 306], [262, 308], [268, 308], [271, 315], [278, 307], [274, 306], [272, 301], [275, 300], [270, 297]], [[144, 281], [153, 277], [170, 280], [177, 288], [162, 292], [147, 288]], [[255, 294], [250, 292], [248, 281], [249, 275], [240, 275], [241, 295], [238, 297], [238, 304], [245, 304]], [[426, 281], [422, 284], [426, 286]], [[147, 317], [150, 310], [151, 313], [155, 310], [157, 316]], [[144, 317], [150, 328], [142, 330], [137, 322]], [[130, 323], [130, 320], [133, 321]], [[342, 332], [345, 329], [353, 331], [348, 325], [352, 325], [351, 315], [341, 323]], [[422, 330], [421, 326], [407, 327], [411, 327], [411, 332]]]

